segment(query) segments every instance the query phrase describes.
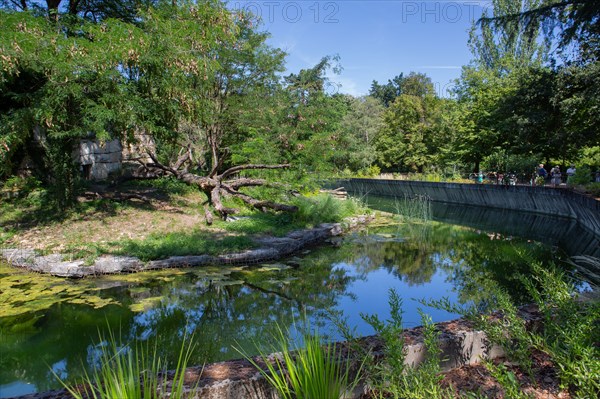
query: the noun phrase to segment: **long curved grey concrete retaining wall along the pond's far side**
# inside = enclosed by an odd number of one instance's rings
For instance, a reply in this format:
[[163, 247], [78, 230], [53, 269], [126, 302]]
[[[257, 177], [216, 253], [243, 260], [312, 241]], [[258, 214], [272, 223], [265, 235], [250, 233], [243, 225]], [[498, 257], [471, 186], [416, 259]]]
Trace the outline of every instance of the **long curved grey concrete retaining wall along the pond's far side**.
[[343, 186], [355, 195], [426, 195], [437, 202], [562, 216], [600, 235], [600, 201], [565, 188], [379, 179], [342, 179], [333, 186]]

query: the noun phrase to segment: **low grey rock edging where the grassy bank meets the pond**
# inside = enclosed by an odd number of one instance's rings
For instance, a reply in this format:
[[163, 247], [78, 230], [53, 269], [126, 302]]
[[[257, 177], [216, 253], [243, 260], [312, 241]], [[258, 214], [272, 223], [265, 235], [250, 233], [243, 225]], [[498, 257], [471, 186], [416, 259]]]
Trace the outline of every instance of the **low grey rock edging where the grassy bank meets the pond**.
[[342, 223], [323, 223], [312, 229], [292, 231], [284, 237], [259, 237], [255, 239], [258, 248], [216, 256], [171, 256], [143, 262], [133, 256], [102, 255], [91, 265], [87, 265], [83, 259], [67, 261], [64, 254], [40, 255], [33, 249], [2, 249], [0, 257], [14, 267], [67, 278], [206, 265], [257, 264], [289, 256], [366, 224], [372, 219], [372, 216], [357, 216], [347, 218]]

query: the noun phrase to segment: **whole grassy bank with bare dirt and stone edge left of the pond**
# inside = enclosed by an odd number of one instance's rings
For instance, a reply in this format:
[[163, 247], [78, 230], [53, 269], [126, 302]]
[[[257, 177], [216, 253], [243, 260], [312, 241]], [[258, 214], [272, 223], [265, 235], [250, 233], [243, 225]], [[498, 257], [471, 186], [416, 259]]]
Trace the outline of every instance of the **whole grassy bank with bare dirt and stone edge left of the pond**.
[[260, 263], [366, 220], [358, 217], [366, 213], [358, 201], [290, 192], [279, 195], [296, 212], [242, 208], [207, 225], [203, 194], [170, 178], [89, 185], [63, 213], [44, 205], [42, 188], [25, 183], [1, 205], [2, 255], [14, 266], [63, 277]]

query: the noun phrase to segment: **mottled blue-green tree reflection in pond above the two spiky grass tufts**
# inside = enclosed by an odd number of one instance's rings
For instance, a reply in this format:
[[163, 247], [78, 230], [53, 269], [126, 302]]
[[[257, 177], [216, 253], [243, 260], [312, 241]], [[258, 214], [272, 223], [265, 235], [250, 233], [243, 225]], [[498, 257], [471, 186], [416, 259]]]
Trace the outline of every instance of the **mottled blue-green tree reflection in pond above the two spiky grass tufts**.
[[277, 322], [292, 326], [304, 314], [336, 304], [351, 278], [330, 263], [298, 269], [234, 272], [227, 280], [194, 282], [193, 273], [172, 284], [167, 300], [135, 317], [132, 336], [156, 336], [161, 351], [176, 353], [184, 328], [194, 331], [194, 362], [238, 357], [232, 346], [252, 353], [256, 343], [275, 336]]

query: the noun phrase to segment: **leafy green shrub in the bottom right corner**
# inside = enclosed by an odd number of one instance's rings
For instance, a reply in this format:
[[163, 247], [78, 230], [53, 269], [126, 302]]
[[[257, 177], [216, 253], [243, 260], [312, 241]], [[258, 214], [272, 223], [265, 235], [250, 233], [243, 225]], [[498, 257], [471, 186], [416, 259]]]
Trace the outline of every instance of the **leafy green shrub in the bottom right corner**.
[[[473, 320], [525, 372], [532, 371], [534, 349], [546, 352], [558, 369], [562, 388], [573, 390], [576, 397], [596, 397], [600, 393], [600, 349], [596, 345], [600, 338], [600, 305], [596, 301], [579, 301], [568, 278], [552, 265], [533, 264], [527, 277], [518, 278], [542, 312], [544, 323], [540, 331], [526, 328], [526, 321], [507, 292], [490, 284], [489, 279], [478, 284], [484, 284], [490, 294], [471, 306], [452, 305], [447, 299], [424, 303]], [[488, 366], [503, 388], [513, 392], [508, 396], [524, 397], [518, 393], [514, 374], [502, 366]]]

